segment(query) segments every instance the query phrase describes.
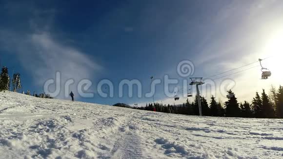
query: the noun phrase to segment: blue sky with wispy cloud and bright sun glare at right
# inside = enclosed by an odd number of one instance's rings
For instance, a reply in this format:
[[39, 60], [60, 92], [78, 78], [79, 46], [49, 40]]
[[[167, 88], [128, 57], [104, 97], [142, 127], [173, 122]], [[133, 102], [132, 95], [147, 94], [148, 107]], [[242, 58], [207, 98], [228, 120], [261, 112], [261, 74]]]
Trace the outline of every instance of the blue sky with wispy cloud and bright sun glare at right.
[[[43, 92], [44, 83], [60, 72], [55, 98], [70, 99], [64, 86], [73, 79], [69, 88], [76, 100], [144, 105], [153, 101], [145, 96], [153, 76], [161, 80], [154, 100], [180, 104], [187, 91], [196, 92], [183, 80], [210, 77], [259, 58], [268, 58], [263, 60], [272, 72], [268, 80], [260, 80], [257, 62], [206, 79], [201, 94], [224, 101], [225, 91], [232, 89], [239, 102], [251, 101], [256, 91], [283, 85], [282, 0], [1, 0], [0, 19], [0, 66], [7, 66], [10, 76], [21, 74], [23, 91]], [[184, 60], [193, 63], [194, 71], [182, 77], [177, 70]], [[178, 80], [168, 87], [170, 97], [164, 93], [165, 76]], [[79, 95], [81, 80], [92, 82], [84, 92], [94, 97]], [[113, 97], [105, 84], [101, 90], [108, 97], [100, 96], [101, 80], [113, 83]], [[137, 86], [132, 97], [126, 86], [119, 89], [122, 80], [138, 80], [142, 97]], [[55, 84], [49, 90], [55, 91]], [[174, 101], [174, 95], [180, 100]]]

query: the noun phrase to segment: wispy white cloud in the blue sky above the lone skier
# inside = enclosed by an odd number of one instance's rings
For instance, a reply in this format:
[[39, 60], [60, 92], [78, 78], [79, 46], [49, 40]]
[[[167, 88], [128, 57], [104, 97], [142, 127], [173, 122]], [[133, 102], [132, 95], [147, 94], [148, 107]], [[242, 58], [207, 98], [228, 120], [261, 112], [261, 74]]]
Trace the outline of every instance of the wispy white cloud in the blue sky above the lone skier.
[[[30, 61], [31, 63], [25, 67], [27, 69], [30, 66], [36, 68], [34, 78], [39, 79], [37, 84], [42, 85], [45, 80], [54, 78], [56, 72], [59, 71], [61, 72], [61, 88], [63, 88], [65, 81], [73, 79], [75, 83], [70, 88], [74, 93], [77, 93], [76, 86], [80, 80], [92, 80], [94, 73], [102, 69], [100, 65], [90, 60], [81, 51], [61, 45], [47, 33], [33, 34], [31, 45], [35, 49], [33, 55], [36, 56], [35, 59], [38, 61], [36, 65]], [[25, 60], [30, 59], [25, 58]], [[94, 92], [94, 90], [91, 92]], [[62, 91], [59, 97], [63, 97]]]

